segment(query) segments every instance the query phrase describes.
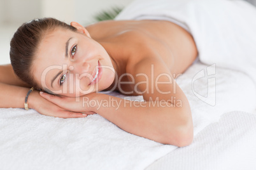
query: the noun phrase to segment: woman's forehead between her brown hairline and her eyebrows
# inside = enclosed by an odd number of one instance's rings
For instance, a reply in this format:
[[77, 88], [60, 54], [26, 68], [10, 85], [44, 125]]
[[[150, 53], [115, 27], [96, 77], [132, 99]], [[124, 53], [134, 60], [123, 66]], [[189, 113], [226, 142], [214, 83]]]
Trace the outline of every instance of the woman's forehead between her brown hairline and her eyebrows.
[[[32, 63], [32, 75], [40, 87], [47, 83], [46, 78], [52, 77], [53, 73], [62, 69], [66, 42], [74, 34], [75, 32], [71, 30], [57, 28], [43, 35]], [[49, 86], [49, 84], [46, 85]]]

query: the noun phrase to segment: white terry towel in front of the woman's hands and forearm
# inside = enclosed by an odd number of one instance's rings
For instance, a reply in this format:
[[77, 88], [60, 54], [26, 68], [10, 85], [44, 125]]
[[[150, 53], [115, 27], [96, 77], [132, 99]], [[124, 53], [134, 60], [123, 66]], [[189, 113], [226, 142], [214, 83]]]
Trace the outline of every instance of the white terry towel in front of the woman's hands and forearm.
[[61, 119], [0, 108], [0, 169], [143, 169], [174, 146], [126, 133], [100, 115]]

